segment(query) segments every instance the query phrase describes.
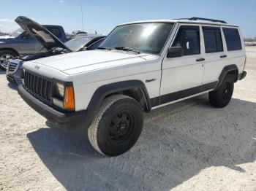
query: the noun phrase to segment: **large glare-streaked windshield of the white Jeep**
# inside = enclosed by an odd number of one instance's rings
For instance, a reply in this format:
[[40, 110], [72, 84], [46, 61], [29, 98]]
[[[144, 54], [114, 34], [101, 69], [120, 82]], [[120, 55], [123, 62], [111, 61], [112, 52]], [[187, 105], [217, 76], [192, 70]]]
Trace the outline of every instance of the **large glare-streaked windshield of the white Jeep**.
[[116, 27], [101, 47], [127, 47], [158, 55], [165, 45], [172, 23], [138, 23]]

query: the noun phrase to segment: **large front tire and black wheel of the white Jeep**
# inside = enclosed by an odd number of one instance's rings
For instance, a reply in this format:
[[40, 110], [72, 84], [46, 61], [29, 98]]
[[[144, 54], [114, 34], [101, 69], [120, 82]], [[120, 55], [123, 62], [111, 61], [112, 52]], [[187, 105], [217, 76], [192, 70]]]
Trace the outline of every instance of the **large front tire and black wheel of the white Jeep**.
[[102, 155], [127, 152], [138, 140], [143, 128], [143, 109], [127, 95], [112, 95], [99, 107], [88, 129], [89, 141]]

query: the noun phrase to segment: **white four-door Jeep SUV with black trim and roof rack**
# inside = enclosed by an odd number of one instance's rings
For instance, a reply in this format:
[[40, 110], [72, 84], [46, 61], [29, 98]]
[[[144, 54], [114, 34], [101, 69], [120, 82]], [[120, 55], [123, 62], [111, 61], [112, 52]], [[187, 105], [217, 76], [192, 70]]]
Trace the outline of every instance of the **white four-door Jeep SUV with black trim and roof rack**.
[[98, 50], [23, 63], [18, 93], [59, 128], [87, 129], [94, 149], [116, 156], [138, 140], [143, 112], [203, 93], [227, 106], [245, 61], [238, 26], [146, 20], [117, 26]]

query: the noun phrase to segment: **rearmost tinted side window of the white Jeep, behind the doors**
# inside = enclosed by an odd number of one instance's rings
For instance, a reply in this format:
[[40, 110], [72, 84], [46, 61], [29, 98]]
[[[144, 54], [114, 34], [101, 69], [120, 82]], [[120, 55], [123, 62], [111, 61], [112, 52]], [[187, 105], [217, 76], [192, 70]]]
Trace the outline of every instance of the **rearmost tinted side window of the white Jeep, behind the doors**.
[[241, 50], [241, 39], [236, 28], [223, 28], [225, 39], [227, 42], [227, 50]]

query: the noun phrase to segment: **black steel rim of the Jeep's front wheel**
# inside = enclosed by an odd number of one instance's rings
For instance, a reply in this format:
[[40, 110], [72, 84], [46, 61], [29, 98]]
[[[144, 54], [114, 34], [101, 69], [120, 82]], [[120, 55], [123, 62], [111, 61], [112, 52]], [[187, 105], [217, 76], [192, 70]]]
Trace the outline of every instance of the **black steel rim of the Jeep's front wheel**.
[[135, 116], [125, 110], [113, 116], [108, 125], [108, 137], [113, 144], [123, 144], [134, 132]]

